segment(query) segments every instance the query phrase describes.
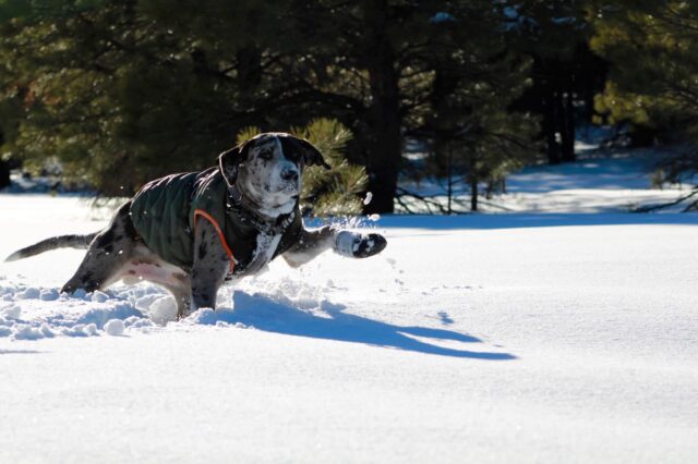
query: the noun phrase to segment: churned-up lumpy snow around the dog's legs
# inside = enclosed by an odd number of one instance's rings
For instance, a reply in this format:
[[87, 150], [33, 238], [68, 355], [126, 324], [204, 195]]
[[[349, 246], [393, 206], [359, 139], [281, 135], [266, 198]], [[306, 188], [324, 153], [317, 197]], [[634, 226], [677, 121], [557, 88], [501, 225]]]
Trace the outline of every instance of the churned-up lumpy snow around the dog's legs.
[[[249, 296], [241, 291], [221, 292], [224, 300], [219, 300], [218, 310], [202, 308], [176, 322], [172, 296], [155, 285], [94, 293], [79, 290], [67, 295], [57, 289], [0, 284], [0, 338], [128, 337], [166, 328], [184, 330], [191, 326], [252, 328], [252, 322], [261, 318], [278, 321], [280, 317], [288, 322], [288, 318], [297, 319], [303, 312], [324, 313], [333, 307], [320, 289], [298, 282], [282, 280], [273, 288], [260, 282], [256, 285], [269, 293]], [[231, 300], [237, 312], [230, 307]]]

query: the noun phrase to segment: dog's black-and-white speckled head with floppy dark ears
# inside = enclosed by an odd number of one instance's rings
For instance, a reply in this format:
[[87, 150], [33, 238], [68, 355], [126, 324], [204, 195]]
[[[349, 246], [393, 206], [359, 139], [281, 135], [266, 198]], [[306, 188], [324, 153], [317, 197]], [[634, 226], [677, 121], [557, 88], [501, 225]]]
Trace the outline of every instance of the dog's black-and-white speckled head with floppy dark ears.
[[228, 187], [269, 217], [293, 209], [305, 166], [329, 169], [310, 142], [285, 133], [260, 134], [224, 151], [218, 164]]

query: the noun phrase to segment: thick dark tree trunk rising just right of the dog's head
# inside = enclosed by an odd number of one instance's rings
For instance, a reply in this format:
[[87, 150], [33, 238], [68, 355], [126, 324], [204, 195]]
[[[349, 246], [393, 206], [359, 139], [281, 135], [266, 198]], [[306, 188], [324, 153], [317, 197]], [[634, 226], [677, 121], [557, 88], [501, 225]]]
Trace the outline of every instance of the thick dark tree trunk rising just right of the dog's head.
[[393, 212], [402, 156], [398, 73], [395, 51], [385, 32], [388, 5], [385, 0], [363, 2], [366, 25], [366, 71], [371, 88], [369, 108], [369, 190], [373, 200], [364, 212]]

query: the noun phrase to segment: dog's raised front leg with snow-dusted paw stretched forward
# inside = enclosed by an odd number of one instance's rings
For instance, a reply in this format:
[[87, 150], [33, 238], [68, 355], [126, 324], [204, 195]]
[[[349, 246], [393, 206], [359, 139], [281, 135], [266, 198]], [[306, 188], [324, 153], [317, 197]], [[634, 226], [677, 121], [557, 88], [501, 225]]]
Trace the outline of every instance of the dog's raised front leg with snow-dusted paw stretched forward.
[[327, 248], [349, 258], [368, 258], [381, 253], [387, 241], [377, 233], [363, 234], [325, 225], [316, 230], [301, 232], [300, 240], [284, 258], [291, 267], [309, 262]]

